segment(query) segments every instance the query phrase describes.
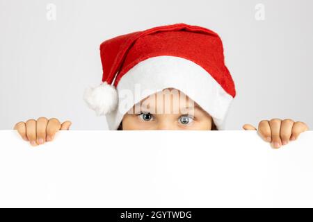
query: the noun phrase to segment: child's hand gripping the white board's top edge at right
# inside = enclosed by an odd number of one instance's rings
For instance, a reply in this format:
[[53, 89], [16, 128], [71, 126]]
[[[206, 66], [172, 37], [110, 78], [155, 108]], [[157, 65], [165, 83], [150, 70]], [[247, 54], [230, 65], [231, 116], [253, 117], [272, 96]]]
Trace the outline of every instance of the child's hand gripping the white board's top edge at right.
[[[250, 124], [242, 127], [244, 130], [257, 130]], [[300, 133], [309, 130], [307, 124], [292, 119], [271, 119], [259, 122], [259, 135], [266, 141], [271, 142], [273, 148], [279, 148], [289, 143], [289, 140], [296, 140]]]

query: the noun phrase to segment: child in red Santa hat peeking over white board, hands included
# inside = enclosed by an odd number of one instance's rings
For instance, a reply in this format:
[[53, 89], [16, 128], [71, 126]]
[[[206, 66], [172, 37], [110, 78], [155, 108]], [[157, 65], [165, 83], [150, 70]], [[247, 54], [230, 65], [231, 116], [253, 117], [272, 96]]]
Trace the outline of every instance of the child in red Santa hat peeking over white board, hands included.
[[[84, 93], [110, 130], [223, 130], [236, 96], [224, 64], [220, 37], [188, 24], [158, 26], [106, 40], [100, 45], [103, 76]], [[33, 146], [54, 139], [71, 122], [40, 117], [15, 130]], [[246, 124], [244, 130], [257, 130]], [[258, 133], [279, 148], [308, 130], [291, 119], [263, 120]]]

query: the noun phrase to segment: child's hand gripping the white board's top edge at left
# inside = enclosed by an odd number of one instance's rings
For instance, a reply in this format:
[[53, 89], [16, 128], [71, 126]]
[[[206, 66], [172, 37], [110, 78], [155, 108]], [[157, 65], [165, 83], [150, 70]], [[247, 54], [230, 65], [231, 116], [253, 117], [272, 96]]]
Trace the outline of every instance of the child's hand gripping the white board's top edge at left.
[[69, 130], [71, 124], [71, 121], [61, 124], [56, 118], [48, 120], [46, 117], [40, 117], [37, 121], [29, 119], [25, 123], [18, 122], [15, 124], [14, 130], [17, 130], [24, 140], [31, 142], [32, 146], [38, 146], [52, 141], [58, 130]]

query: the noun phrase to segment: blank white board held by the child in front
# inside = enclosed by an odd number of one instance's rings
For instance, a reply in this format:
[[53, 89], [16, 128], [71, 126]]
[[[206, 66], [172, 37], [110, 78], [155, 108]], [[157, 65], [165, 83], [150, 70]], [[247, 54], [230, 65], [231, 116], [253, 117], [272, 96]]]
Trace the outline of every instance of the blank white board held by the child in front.
[[313, 207], [313, 131], [0, 131], [0, 207]]

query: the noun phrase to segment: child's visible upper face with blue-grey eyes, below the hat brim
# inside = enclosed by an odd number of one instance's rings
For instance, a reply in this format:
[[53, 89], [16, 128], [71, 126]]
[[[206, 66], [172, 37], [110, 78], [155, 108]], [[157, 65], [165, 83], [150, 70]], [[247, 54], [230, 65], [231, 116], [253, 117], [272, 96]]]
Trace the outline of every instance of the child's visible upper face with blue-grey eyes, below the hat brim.
[[163, 89], [134, 105], [122, 130], [211, 130], [212, 117], [177, 89]]

